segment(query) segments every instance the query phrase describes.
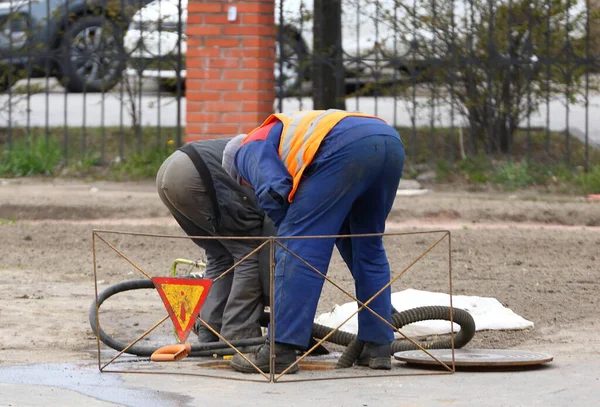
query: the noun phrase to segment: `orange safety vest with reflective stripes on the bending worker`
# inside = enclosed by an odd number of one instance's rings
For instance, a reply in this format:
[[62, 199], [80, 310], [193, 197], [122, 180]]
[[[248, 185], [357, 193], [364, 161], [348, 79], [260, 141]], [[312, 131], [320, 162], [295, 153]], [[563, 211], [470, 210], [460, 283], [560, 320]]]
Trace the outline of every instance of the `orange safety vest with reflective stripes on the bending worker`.
[[283, 123], [279, 157], [293, 179], [292, 191], [288, 196], [288, 201], [292, 202], [298, 185], [300, 185], [302, 173], [315, 157], [321, 142], [336, 124], [349, 116], [369, 117], [384, 121], [377, 116], [337, 109], [299, 111], [292, 115], [276, 113], [270, 115], [260, 126], [248, 133], [242, 145], [252, 140], [266, 138], [266, 134], [262, 135], [263, 137], [256, 137], [258, 135], [255, 133], [261, 128], [276, 121]]

